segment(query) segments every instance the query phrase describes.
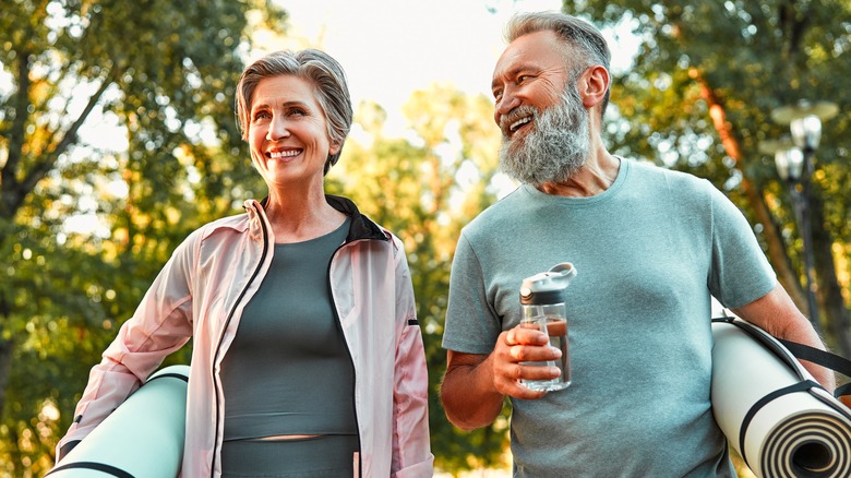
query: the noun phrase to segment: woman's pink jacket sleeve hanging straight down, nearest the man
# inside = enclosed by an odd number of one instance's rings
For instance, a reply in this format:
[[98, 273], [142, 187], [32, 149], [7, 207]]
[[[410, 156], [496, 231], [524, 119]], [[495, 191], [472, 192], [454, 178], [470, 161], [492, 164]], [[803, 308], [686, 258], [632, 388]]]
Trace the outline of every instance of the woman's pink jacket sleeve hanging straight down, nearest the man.
[[431, 477], [434, 455], [429, 438], [429, 375], [422, 334], [417, 322], [408, 262], [401, 243], [396, 251], [396, 343], [393, 391], [393, 477]]

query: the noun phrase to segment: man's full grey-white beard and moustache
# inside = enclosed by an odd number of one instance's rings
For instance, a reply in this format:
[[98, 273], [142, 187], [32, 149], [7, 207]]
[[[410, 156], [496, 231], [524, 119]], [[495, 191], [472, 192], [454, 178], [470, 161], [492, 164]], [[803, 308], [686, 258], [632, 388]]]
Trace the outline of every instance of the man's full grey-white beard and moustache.
[[[502, 147], [500, 169], [512, 178], [532, 186], [544, 182], [565, 182], [585, 165], [590, 154], [588, 110], [568, 81], [562, 100], [539, 111], [520, 106], [500, 119]], [[531, 130], [510, 138], [508, 126], [524, 116], [532, 115]]]

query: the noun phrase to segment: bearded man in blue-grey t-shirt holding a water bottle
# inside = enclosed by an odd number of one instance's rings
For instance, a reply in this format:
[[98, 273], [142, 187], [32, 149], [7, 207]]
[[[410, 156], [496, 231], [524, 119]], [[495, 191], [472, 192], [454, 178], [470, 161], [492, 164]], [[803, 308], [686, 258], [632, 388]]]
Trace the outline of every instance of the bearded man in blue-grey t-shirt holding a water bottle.
[[[708, 181], [611, 155], [601, 140], [610, 53], [558, 13], [525, 14], [493, 74], [501, 167], [523, 184], [462, 232], [441, 397], [463, 429], [512, 402], [514, 475], [733, 476], [709, 401], [710, 296], [771, 334], [823, 347], [746, 220]], [[516, 328], [524, 277], [572, 262], [573, 384], [534, 392], [520, 362], [560, 352]], [[811, 367], [834, 389], [827, 370]]]

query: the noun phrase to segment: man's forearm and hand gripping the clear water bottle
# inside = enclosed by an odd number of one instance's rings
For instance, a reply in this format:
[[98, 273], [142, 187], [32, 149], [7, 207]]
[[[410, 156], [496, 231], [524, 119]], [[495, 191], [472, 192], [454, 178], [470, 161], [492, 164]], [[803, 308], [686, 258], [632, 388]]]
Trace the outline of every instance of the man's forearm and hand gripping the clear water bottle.
[[464, 430], [486, 427], [502, 411], [505, 396], [535, 399], [546, 392], [534, 392], [524, 380], [551, 380], [556, 367], [524, 366], [520, 361], [556, 360], [561, 350], [550, 347], [546, 334], [528, 328], [512, 328], [500, 334], [490, 355], [446, 352], [446, 373], [441, 385], [441, 402], [450, 421]]

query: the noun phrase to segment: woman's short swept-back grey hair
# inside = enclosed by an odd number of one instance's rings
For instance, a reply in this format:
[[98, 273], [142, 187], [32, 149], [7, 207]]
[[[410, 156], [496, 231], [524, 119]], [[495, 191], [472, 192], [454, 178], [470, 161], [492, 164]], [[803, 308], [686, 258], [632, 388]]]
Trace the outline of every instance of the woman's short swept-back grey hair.
[[237, 84], [236, 99], [237, 119], [242, 139], [248, 140], [251, 101], [257, 84], [263, 79], [285, 74], [302, 77], [313, 84], [316, 101], [327, 120], [328, 139], [332, 144], [339, 144], [337, 154], [328, 155], [325, 163], [327, 174], [339, 159], [343, 143], [351, 128], [353, 113], [346, 73], [337, 60], [324, 51], [315, 49], [275, 51], [245, 68]]

